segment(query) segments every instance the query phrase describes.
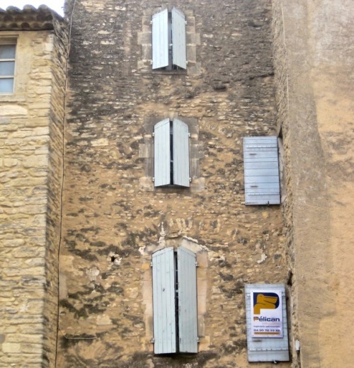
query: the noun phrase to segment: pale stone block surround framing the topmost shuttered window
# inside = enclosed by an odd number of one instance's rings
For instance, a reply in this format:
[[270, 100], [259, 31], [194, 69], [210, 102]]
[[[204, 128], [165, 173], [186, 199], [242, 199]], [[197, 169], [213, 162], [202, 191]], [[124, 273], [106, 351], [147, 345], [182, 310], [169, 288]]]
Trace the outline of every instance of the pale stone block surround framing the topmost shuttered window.
[[[142, 47], [140, 60], [137, 62], [137, 69], [142, 73], [154, 74], [185, 74], [184, 70], [152, 70], [152, 16], [166, 8], [149, 8], [142, 16], [142, 32], [137, 35], [137, 44]], [[169, 9], [171, 10], [171, 9]], [[197, 46], [200, 45], [200, 33], [195, 32], [195, 16], [193, 10], [181, 9], [185, 15], [186, 24], [186, 44], [187, 44], [187, 74], [200, 75], [202, 72], [200, 62], [197, 62]]]

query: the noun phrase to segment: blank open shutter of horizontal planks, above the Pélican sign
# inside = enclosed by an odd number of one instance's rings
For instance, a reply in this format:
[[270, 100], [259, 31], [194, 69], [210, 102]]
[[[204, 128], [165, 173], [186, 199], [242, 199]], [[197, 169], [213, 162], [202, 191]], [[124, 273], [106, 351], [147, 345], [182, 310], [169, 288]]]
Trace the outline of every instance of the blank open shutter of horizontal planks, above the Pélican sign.
[[279, 205], [277, 137], [244, 137], [246, 205]]

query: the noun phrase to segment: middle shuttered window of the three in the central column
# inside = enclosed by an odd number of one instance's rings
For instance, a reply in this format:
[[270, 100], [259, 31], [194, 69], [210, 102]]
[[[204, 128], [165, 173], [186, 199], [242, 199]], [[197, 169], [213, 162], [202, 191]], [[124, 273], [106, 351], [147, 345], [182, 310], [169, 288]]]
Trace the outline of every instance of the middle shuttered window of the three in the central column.
[[190, 186], [188, 125], [178, 119], [154, 125], [154, 186], [164, 185]]

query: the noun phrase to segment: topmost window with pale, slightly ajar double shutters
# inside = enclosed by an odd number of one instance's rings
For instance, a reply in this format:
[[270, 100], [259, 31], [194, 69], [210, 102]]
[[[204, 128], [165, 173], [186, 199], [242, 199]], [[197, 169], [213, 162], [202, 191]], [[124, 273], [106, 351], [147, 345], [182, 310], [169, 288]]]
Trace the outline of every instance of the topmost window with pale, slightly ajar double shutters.
[[186, 69], [185, 16], [176, 8], [152, 16], [152, 69]]

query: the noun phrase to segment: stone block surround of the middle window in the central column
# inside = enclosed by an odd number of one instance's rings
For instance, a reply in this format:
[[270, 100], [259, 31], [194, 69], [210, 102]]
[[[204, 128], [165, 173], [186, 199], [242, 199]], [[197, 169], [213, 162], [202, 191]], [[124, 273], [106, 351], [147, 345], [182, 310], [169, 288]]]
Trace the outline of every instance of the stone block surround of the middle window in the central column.
[[[144, 118], [144, 143], [139, 145], [139, 158], [145, 159], [145, 173], [144, 177], [139, 179], [140, 188], [152, 191], [152, 190], [176, 190], [175, 187], [171, 188], [154, 188], [154, 125], [161, 120], [169, 117], [170, 120], [178, 117], [185, 124], [188, 125], [190, 133], [190, 188], [184, 190], [190, 190], [192, 192], [200, 192], [205, 189], [205, 178], [200, 177], [200, 159], [203, 157], [203, 147], [198, 142], [199, 127], [198, 119], [196, 117], [181, 117], [177, 114], [166, 113], [166, 115], [149, 116]], [[181, 190], [181, 189], [179, 189]]]

